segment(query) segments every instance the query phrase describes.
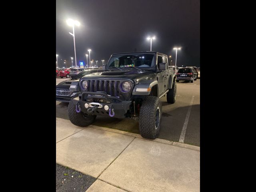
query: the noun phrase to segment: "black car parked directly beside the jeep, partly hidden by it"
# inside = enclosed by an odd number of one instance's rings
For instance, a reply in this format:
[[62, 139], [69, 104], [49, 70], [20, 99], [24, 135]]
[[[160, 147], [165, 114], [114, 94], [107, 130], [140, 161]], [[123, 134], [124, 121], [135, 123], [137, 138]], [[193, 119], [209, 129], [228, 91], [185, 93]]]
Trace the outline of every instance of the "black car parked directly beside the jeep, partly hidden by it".
[[95, 72], [102, 72], [104, 70], [102, 69], [86, 69], [82, 71], [81, 73], [77, 74], [73, 78], [62, 81], [59, 84], [56, 85], [56, 101], [61, 102], [70, 102], [71, 98], [73, 96], [76, 96], [78, 92], [70, 91], [69, 87], [72, 82], [78, 82], [79, 79], [85, 75], [95, 73]]

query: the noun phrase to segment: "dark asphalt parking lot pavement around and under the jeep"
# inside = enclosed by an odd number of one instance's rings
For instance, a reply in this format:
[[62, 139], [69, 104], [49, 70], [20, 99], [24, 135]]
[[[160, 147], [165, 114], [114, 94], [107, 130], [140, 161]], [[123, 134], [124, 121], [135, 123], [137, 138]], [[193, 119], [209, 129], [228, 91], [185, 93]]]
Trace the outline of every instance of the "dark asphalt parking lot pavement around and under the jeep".
[[[56, 78], [56, 84], [67, 78]], [[158, 138], [200, 146], [200, 79], [194, 83], [177, 83], [177, 96], [174, 104], [162, 101], [162, 121]], [[68, 103], [56, 102], [56, 117], [68, 120]], [[97, 116], [92, 125], [123, 130], [139, 134], [138, 122], [131, 119], [118, 119]]]

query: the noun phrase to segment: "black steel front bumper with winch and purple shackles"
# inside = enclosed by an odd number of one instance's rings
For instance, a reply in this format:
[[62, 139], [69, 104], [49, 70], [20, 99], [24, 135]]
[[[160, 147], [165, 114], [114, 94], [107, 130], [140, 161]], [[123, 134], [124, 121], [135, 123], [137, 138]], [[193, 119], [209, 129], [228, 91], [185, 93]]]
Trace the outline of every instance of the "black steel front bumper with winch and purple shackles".
[[[79, 101], [78, 105], [80, 105], [81, 111], [86, 114], [90, 115], [100, 115], [100, 116], [110, 116], [109, 110], [114, 109], [114, 117], [116, 118], [124, 118], [126, 117], [126, 113], [128, 109], [130, 108], [130, 104], [132, 101], [122, 101], [120, 98], [115, 96], [108, 96], [105, 92], [83, 92], [82, 94], [79, 94]], [[95, 100], [103, 100], [104, 102], [95, 102]], [[102, 105], [102, 108], [95, 108], [92, 111], [92, 107], [85, 107], [85, 104], [88, 104], [91, 106], [94, 106], [97, 103], [99, 105]], [[104, 109], [104, 106], [108, 106], [108, 110]], [[96, 105], [97, 106], [97, 105]]]

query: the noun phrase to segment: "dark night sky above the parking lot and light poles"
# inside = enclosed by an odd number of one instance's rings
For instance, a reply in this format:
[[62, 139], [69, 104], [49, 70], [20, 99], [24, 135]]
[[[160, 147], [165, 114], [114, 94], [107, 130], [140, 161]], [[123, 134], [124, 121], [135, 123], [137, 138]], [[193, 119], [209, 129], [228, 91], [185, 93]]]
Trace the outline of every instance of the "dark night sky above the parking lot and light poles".
[[56, 0], [56, 54], [61, 67], [64, 59], [71, 63], [74, 58], [68, 18], [81, 23], [75, 26], [77, 64], [86, 64], [88, 48], [98, 66], [113, 53], [150, 51], [147, 37], [156, 36], [152, 51], [174, 58], [173, 48], [180, 46], [177, 66], [200, 66], [199, 0]]

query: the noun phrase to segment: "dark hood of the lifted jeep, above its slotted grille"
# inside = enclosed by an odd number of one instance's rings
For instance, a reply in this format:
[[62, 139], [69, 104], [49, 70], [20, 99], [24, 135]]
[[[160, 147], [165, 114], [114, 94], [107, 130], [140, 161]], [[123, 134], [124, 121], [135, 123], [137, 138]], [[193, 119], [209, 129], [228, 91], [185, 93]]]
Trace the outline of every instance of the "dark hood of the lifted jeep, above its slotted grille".
[[134, 81], [147, 80], [156, 76], [152, 70], [110, 70], [86, 75], [84, 78], [94, 79], [128, 79]]

